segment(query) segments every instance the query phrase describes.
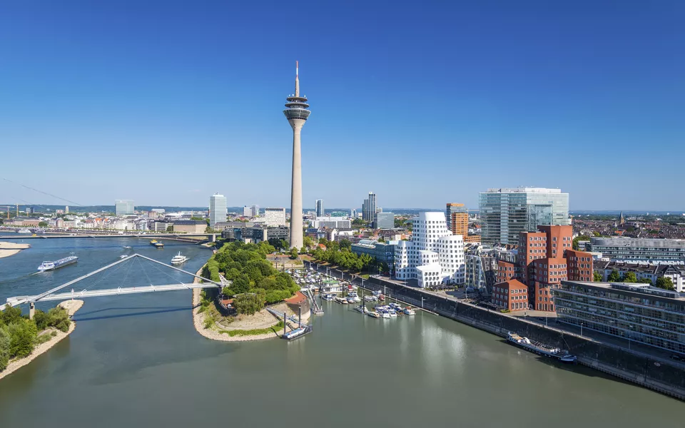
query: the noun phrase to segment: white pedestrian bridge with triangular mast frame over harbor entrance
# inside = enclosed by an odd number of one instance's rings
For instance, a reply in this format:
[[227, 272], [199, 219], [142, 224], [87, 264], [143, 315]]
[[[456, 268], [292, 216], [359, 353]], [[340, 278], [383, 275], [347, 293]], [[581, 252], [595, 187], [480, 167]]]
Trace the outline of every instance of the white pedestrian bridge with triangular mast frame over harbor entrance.
[[[168, 269], [173, 269], [173, 270], [177, 270], [178, 272], [186, 273], [188, 275], [191, 275], [193, 277], [196, 277], [198, 279], [203, 280], [203, 282], [191, 282], [190, 284], [186, 284], [186, 283], [181, 282], [178, 284], [146, 285], [143, 287], [117, 287], [117, 288], [110, 288], [110, 289], [106, 289], [106, 290], [83, 289], [80, 291], [74, 291], [72, 288], [68, 292], [59, 292], [61, 290], [64, 290], [64, 288], [66, 288], [66, 287], [70, 287], [71, 285], [74, 285], [78, 282], [85, 280], [88, 277], [91, 277], [93, 275], [96, 275], [97, 273], [108, 270], [109, 268], [114, 267], [116, 265], [119, 265], [120, 263], [124, 263], [128, 260], [133, 260], [134, 258], [142, 258], [142, 259], [148, 260], [152, 263], [157, 263], [158, 265], [162, 265], [164, 267], [167, 267]], [[84, 297], [104, 297], [104, 296], [113, 296], [113, 295], [128, 295], [128, 294], [136, 294], [136, 293], [141, 293], [141, 292], [163, 292], [163, 291], [176, 291], [176, 290], [190, 290], [191, 288], [219, 288], [220, 289], [221, 287], [223, 287], [223, 285], [221, 285], [219, 282], [214, 282], [212, 280], [208, 280], [207, 278], [196, 275], [193, 272], [188, 272], [186, 270], [179, 269], [178, 267], [173, 267], [172, 265], [166, 265], [165, 263], [161, 263], [158, 260], [154, 260], [152, 258], [148, 258], [144, 255], [140, 255], [140, 254], [136, 253], [136, 254], [129, 255], [126, 258], [122, 258], [121, 260], [117, 260], [116, 262], [111, 263], [109, 265], [101, 267], [98, 270], [93, 270], [93, 272], [87, 273], [86, 275], [78, 277], [75, 280], [71, 280], [69, 282], [66, 282], [65, 284], [59, 285], [58, 287], [54, 287], [51, 290], [43, 292], [39, 295], [26, 295], [26, 296], [8, 297], [7, 303], [5, 305], [0, 305], [0, 311], [5, 310], [5, 308], [8, 306], [14, 307], [16, 305], [22, 305], [24, 303], [29, 303], [29, 317], [32, 318], [33, 314], [34, 314], [34, 305], [36, 304], [36, 302], [42, 302], [42, 301], [68, 300], [68, 299], [77, 299], [77, 298], [81, 299]]]

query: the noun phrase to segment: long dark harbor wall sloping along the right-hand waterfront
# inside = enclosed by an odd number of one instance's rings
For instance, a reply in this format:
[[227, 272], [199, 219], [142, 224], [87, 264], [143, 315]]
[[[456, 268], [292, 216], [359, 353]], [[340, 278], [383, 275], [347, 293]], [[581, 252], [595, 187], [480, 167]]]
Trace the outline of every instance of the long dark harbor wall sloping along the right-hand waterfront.
[[569, 350], [578, 357], [579, 364], [685, 400], [685, 371], [666, 362], [657, 362], [646, 355], [635, 355], [624, 348], [598, 342], [589, 337], [564, 332], [554, 327], [545, 327], [465, 302], [455, 302], [419, 289], [397, 285], [395, 282], [382, 280], [382, 278], [372, 277], [364, 282], [364, 287], [385, 291], [391, 298], [397, 297], [416, 307], [500, 337], [507, 337], [507, 332], [517, 332], [532, 340]]

